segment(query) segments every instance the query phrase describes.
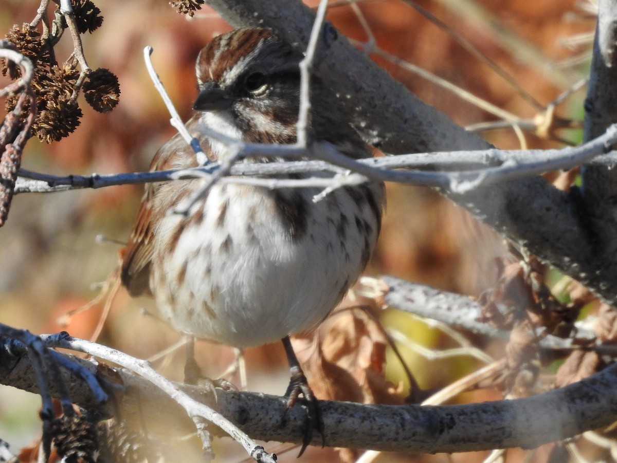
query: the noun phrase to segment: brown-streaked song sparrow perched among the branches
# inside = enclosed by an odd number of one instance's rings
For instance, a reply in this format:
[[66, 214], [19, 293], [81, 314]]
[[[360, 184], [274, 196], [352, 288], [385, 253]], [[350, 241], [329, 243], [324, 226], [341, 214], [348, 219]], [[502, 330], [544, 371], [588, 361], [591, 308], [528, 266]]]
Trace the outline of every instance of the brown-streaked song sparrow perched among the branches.
[[[228, 152], [202, 128], [247, 142], [296, 141], [301, 59], [260, 28], [231, 31], [202, 49], [197, 113], [187, 127], [209, 158], [220, 161]], [[353, 158], [370, 155], [346, 110], [317, 76], [310, 99], [310, 134], [317, 146], [332, 144]], [[151, 169], [193, 166], [193, 152], [176, 135], [157, 152]], [[151, 292], [164, 318], [195, 337], [237, 347], [282, 339], [293, 373], [289, 404], [299, 393], [312, 399], [288, 336], [323, 320], [365, 268], [379, 233], [383, 186], [342, 187], [313, 202], [319, 192], [314, 188], [218, 183], [187, 215], [170, 213], [199, 186], [200, 180], [146, 186], [123, 252], [123, 284], [131, 295]]]

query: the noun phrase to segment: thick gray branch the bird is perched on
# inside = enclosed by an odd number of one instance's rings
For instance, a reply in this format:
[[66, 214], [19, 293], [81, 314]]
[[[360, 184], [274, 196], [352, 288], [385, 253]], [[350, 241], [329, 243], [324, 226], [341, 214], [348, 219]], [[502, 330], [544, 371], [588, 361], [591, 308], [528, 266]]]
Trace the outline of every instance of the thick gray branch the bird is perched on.
[[[82, 359], [76, 361], [92, 368]], [[5, 366], [7, 366], [5, 364]], [[161, 419], [176, 427], [192, 425], [169, 396], [125, 369], [117, 373], [126, 385], [119, 404], [124, 417], [141, 422]], [[2, 383], [36, 391], [27, 356], [5, 368]], [[89, 388], [71, 375], [73, 401], [93, 406]], [[617, 366], [567, 387], [529, 398], [457, 406], [385, 406], [321, 401], [326, 445], [387, 451], [436, 453], [494, 448], [532, 448], [576, 436], [617, 420]], [[217, 390], [214, 401], [203, 389], [183, 387], [238, 425], [252, 438], [300, 443], [305, 412], [285, 399], [255, 393]], [[108, 405], [107, 414], [113, 413]], [[320, 436], [313, 444], [320, 445]], [[268, 449], [268, 448], [266, 448]]]

